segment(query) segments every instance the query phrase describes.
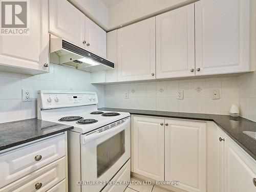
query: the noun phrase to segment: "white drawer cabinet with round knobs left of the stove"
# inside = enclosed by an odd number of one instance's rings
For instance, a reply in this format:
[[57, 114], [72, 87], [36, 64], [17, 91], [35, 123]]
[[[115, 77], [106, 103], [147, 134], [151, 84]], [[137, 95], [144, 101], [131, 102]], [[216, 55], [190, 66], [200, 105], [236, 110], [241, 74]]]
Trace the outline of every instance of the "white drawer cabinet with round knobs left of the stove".
[[65, 180], [66, 143], [65, 134], [60, 134], [0, 154], [0, 192], [46, 191]]

